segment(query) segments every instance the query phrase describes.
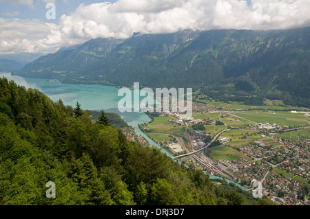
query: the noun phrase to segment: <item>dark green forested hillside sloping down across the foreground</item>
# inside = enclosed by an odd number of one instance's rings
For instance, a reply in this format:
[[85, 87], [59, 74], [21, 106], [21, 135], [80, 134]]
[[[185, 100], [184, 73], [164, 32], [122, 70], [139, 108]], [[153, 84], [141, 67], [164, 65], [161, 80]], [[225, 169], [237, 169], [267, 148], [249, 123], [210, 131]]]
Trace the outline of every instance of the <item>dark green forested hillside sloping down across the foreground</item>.
[[[0, 79], [0, 205], [247, 205], [259, 202], [155, 148], [127, 141], [105, 119]], [[56, 185], [56, 198], [46, 198]]]

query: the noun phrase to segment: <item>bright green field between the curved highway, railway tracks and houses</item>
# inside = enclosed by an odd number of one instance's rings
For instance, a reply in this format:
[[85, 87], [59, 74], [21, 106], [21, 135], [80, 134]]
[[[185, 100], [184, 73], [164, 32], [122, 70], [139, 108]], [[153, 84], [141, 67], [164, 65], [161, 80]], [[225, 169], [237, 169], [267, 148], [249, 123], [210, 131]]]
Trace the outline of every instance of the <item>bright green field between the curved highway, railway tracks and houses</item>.
[[208, 151], [209, 155], [217, 161], [222, 158], [225, 158], [228, 161], [234, 161], [236, 159], [240, 159], [241, 157], [246, 157], [245, 154], [224, 145], [209, 148]]

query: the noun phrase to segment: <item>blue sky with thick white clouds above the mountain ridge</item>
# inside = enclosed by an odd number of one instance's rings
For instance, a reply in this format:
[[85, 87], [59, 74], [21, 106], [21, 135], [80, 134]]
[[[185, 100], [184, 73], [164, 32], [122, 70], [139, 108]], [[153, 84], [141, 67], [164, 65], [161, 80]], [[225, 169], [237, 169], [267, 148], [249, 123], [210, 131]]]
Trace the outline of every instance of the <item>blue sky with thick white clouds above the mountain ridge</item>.
[[0, 0], [0, 54], [50, 53], [133, 32], [304, 27], [309, 12], [309, 0]]

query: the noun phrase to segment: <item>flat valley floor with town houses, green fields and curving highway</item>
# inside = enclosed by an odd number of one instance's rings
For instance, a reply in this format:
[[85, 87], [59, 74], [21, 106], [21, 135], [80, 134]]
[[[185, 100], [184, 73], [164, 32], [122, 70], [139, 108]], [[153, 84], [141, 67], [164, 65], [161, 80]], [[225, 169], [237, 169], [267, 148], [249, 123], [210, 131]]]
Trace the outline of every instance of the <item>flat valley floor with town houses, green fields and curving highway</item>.
[[209, 176], [227, 178], [249, 192], [257, 180], [263, 195], [278, 205], [310, 205], [308, 115], [194, 103], [191, 118], [154, 113], [153, 122], [140, 128], [175, 159]]

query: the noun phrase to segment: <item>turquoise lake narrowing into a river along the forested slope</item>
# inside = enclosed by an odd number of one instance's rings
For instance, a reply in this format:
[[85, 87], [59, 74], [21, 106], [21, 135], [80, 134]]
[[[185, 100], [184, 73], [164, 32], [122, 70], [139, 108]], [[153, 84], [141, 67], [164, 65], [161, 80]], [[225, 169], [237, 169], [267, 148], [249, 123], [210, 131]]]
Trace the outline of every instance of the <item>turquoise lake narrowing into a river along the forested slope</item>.
[[[149, 139], [149, 137], [147, 137], [147, 135], [145, 135], [138, 127], [138, 124], [151, 122], [148, 115], [143, 112], [121, 113], [118, 111], [118, 102], [123, 97], [118, 97], [118, 89], [116, 87], [94, 84], [63, 84], [59, 81], [50, 81], [47, 79], [12, 76], [10, 73], [0, 73], [0, 77], [8, 78], [8, 80], [14, 80], [17, 84], [25, 87], [26, 89], [38, 89], [50, 97], [50, 99], [54, 102], [61, 99], [63, 104], [72, 107], [76, 106], [76, 102], [79, 102], [79, 104], [81, 104], [81, 108], [84, 109], [91, 111], [104, 110], [107, 113], [117, 113], [125, 122], [127, 122], [127, 124], [136, 130], [137, 135], [145, 137], [150, 146], [155, 146], [156, 148], [161, 149], [161, 152], [167, 154], [167, 156], [173, 157], [173, 155], [167, 152], [167, 150], [161, 148], [161, 146], [158, 146], [158, 144], [152, 141], [152, 139]], [[209, 177], [220, 178], [213, 175], [209, 175]], [[247, 189], [246, 187], [243, 187], [242, 185], [226, 178], [225, 180], [228, 183], [238, 185], [244, 190]]]

